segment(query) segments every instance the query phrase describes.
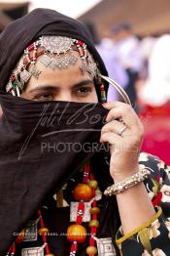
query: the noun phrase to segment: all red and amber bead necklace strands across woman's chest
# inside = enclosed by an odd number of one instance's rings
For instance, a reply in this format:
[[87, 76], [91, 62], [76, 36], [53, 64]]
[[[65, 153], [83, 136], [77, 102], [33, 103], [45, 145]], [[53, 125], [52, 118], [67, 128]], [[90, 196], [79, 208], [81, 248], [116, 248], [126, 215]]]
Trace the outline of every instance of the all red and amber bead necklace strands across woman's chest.
[[[89, 164], [85, 165], [83, 183], [78, 184], [73, 192], [74, 198], [79, 202], [77, 210], [76, 223], [71, 224], [67, 230], [67, 239], [71, 242], [70, 256], [76, 256], [78, 252], [79, 243], [83, 243], [86, 240], [87, 233], [85, 227], [82, 225], [84, 222], [85, 214], [85, 202], [91, 201], [91, 208], [89, 209], [90, 221], [88, 226], [90, 228], [90, 236], [88, 246], [86, 248], [86, 254], [94, 256], [97, 254], [96, 241], [94, 236], [97, 233], [99, 222], [97, 216], [100, 213], [100, 209], [97, 207], [95, 195], [97, 189], [97, 181], [94, 180], [93, 174], [90, 171]], [[38, 218], [40, 220], [39, 235], [42, 235], [43, 246], [45, 249], [45, 256], [54, 256], [51, 253], [51, 249], [48, 243], [47, 235], [49, 229], [45, 227], [45, 223], [42, 217], [41, 210], [38, 210]], [[16, 255], [16, 243], [22, 242], [24, 239], [24, 230], [17, 236], [16, 241], [10, 246], [6, 256]]]

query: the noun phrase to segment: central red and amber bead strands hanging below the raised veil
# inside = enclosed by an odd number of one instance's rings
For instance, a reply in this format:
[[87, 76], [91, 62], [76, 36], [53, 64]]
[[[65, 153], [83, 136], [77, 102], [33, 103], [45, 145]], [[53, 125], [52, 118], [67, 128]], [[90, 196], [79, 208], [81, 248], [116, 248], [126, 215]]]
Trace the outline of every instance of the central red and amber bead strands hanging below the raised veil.
[[78, 184], [74, 190], [74, 197], [76, 200], [79, 201], [79, 206], [76, 224], [70, 225], [67, 230], [67, 239], [72, 242], [70, 248], [70, 256], [75, 256], [78, 251], [78, 244], [85, 242], [86, 230], [82, 223], [85, 213], [85, 202], [90, 200], [92, 200], [92, 207], [90, 209], [91, 220], [89, 221], [90, 237], [89, 246], [86, 248], [86, 254], [93, 256], [97, 253], [97, 248], [95, 247], [95, 240], [93, 238], [93, 236], [95, 236], [97, 233], [97, 228], [99, 227], [97, 215], [100, 212], [100, 209], [96, 206], [96, 188], [97, 182], [94, 180], [94, 177], [90, 172], [90, 167], [87, 164], [85, 165], [84, 169], [83, 184]]

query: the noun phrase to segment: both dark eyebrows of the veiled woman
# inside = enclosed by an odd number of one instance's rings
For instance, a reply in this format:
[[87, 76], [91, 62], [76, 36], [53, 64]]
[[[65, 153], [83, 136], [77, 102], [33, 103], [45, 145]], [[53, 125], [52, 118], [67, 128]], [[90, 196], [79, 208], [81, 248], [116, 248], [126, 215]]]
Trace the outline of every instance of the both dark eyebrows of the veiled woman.
[[[71, 88], [77, 88], [79, 86], [84, 86], [84, 85], [89, 85], [89, 84], [94, 84], [92, 80], [87, 79], [87, 80], [82, 80], [76, 84], [74, 84], [73, 86], [71, 86]], [[58, 89], [60, 89], [60, 86], [54, 86], [54, 85], [39, 85], [36, 88], [29, 90], [28, 93], [33, 93], [33, 92], [40, 92], [40, 91], [57, 91]]]

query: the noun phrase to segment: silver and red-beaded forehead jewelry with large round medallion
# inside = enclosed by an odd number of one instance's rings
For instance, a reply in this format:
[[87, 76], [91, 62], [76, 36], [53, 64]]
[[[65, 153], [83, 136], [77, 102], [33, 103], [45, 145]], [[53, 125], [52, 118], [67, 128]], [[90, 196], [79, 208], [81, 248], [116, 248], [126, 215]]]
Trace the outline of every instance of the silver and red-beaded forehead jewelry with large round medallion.
[[40, 63], [45, 67], [62, 70], [77, 63], [78, 58], [73, 55], [74, 51], [77, 51], [82, 59], [83, 74], [87, 72], [93, 79], [97, 75], [97, 64], [87, 52], [83, 41], [63, 36], [42, 36], [24, 50], [9, 79], [6, 91], [20, 96], [31, 76], [39, 78], [42, 71], [36, 66], [38, 57], [42, 56]]

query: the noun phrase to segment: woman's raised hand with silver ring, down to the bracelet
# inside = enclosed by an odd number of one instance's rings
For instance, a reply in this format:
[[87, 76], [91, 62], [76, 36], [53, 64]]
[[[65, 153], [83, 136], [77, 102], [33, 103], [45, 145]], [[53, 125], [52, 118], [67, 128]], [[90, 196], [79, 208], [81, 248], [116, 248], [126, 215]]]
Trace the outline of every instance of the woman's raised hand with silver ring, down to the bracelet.
[[144, 136], [143, 125], [137, 114], [127, 104], [104, 104], [110, 109], [101, 130], [101, 143], [110, 144], [110, 173], [115, 182], [138, 171], [138, 157]]

